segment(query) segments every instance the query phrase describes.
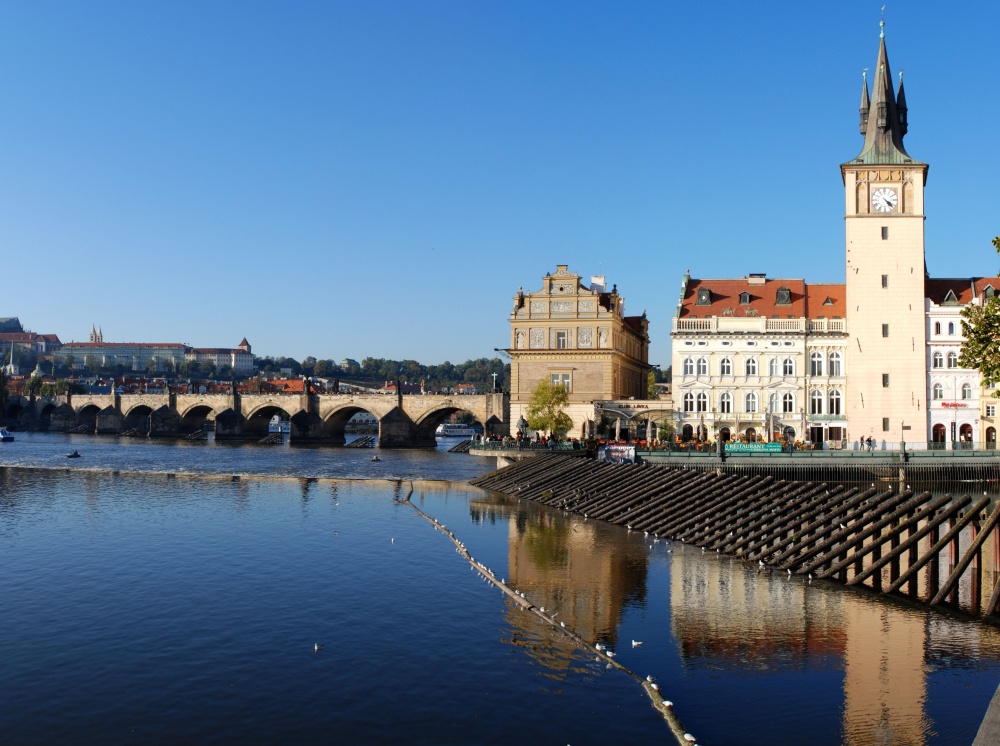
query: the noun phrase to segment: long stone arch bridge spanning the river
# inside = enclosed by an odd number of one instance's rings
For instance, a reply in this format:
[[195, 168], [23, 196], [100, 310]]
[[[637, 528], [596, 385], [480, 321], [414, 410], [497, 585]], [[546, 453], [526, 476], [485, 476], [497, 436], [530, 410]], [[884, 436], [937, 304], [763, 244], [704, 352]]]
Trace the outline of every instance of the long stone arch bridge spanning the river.
[[470, 412], [488, 433], [510, 431], [505, 394], [462, 396], [385, 394], [73, 394], [36, 399], [22, 410], [26, 426], [179, 437], [215, 423], [217, 440], [267, 435], [274, 415], [291, 421], [292, 443], [343, 445], [344, 426], [359, 412], [378, 419], [382, 448], [433, 448], [437, 426]]

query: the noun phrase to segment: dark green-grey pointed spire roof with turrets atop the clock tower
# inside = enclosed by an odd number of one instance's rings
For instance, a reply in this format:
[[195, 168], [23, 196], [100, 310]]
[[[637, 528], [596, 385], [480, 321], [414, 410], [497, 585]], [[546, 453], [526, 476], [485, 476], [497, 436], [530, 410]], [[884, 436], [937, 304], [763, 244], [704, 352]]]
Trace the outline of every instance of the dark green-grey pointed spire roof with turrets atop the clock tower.
[[[872, 96], [865, 123], [867, 126], [863, 133], [865, 144], [858, 157], [844, 165], [859, 163], [897, 166], [904, 164], [925, 165], [915, 158], [911, 158], [906, 152], [906, 148], [903, 147], [903, 135], [906, 134], [906, 99], [903, 98], [903, 107], [900, 111], [892, 90], [889, 55], [885, 50], [885, 22], [883, 21], [881, 25], [883, 28], [879, 38], [878, 62], [875, 65], [875, 75], [872, 79]], [[867, 95], [866, 84], [861, 97], [862, 109]]]

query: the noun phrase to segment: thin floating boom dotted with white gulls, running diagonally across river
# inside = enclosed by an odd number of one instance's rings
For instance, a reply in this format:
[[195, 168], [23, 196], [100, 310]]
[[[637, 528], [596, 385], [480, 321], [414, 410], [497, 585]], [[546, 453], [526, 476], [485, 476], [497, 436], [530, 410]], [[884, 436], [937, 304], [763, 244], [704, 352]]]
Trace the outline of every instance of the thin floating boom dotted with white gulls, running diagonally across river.
[[[445, 526], [443, 523], [438, 521], [433, 516], [428, 515], [416, 505], [410, 501], [410, 497], [413, 495], [413, 482], [410, 482], [410, 491], [406, 493], [406, 497], [397, 502], [401, 505], [408, 505], [413, 510], [417, 512], [421, 518], [430, 523], [436, 531], [440, 531], [455, 545], [455, 551], [461, 555], [470, 565], [470, 567], [479, 573], [479, 576], [487, 583], [490, 583], [494, 587], [498, 588], [504, 595], [516, 603], [522, 611], [527, 611], [534, 614], [540, 620], [545, 622], [558, 634], [571, 640], [577, 647], [582, 650], [586, 650], [588, 653], [593, 653], [596, 659], [607, 664], [608, 668], [616, 668], [626, 676], [630, 677], [637, 684], [642, 686], [643, 691], [649, 697], [649, 701], [652, 703], [653, 707], [656, 709], [660, 715], [663, 716], [664, 721], [670, 728], [671, 733], [674, 738], [677, 739], [677, 743], [683, 744], [683, 746], [691, 746], [695, 743], [695, 738], [684, 729], [684, 725], [681, 723], [681, 719], [674, 712], [674, 703], [666, 699], [660, 693], [660, 686], [656, 683], [656, 679], [652, 676], [646, 676], [645, 678], [639, 676], [634, 671], [632, 671], [627, 666], [622, 665], [617, 660], [615, 660], [615, 653], [609, 650], [606, 645], [602, 643], [591, 643], [585, 640], [583, 637], [574, 632], [571, 628], [566, 626], [565, 622], [558, 621], [556, 617], [559, 612], [550, 613], [550, 610], [546, 610], [544, 606], [535, 606], [523, 591], [515, 590], [507, 584], [506, 578], [498, 578], [496, 574], [484, 565], [482, 562], [477, 560], [472, 554], [469, 553], [468, 548], [465, 544], [455, 536], [455, 532]], [[639, 643], [641, 645], [642, 643]], [[638, 647], [633, 641], [633, 647]]]

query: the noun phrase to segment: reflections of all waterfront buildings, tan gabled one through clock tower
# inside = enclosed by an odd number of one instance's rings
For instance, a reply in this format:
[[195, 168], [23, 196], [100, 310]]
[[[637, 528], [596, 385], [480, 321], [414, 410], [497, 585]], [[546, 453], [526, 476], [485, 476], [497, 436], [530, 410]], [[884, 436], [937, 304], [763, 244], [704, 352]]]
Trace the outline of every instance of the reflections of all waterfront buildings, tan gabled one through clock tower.
[[[676, 543], [666, 554], [662, 544], [651, 548], [617, 527], [500, 496], [471, 500], [470, 514], [476, 523], [506, 523], [511, 584], [558, 611], [587, 639], [614, 645], [628, 608], [645, 606], [652, 575], [666, 572], [670, 636], [687, 676], [714, 671], [765, 682], [800, 672], [806, 681], [809, 670], [842, 671], [842, 692], [832, 702], [803, 699], [789, 706], [829, 709], [839, 699], [843, 743], [933, 740], [929, 677], [953, 665], [1000, 661], [997, 629], [947, 611], [833, 582], [758, 573], [739, 560]], [[965, 537], [963, 551], [970, 540]], [[651, 564], [656, 553], [666, 562]], [[981, 563], [987, 582], [995, 574], [994, 555], [988, 543]], [[963, 597], [970, 592], [966, 581]], [[558, 636], [540, 635], [534, 617], [513, 605], [506, 619], [510, 642], [550, 673], [569, 668], [578, 655]], [[653, 630], [646, 632], [653, 637]]]

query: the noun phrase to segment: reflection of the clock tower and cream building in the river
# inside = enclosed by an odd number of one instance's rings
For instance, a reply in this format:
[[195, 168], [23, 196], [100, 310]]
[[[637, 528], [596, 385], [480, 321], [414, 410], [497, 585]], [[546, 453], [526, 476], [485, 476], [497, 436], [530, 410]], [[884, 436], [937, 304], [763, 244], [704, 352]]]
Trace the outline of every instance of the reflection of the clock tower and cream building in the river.
[[[671, 627], [685, 666], [844, 670], [843, 742], [922, 744], [935, 658], [996, 658], [1000, 632], [691, 548], [672, 555]], [[817, 661], [817, 658], [820, 661]]]

